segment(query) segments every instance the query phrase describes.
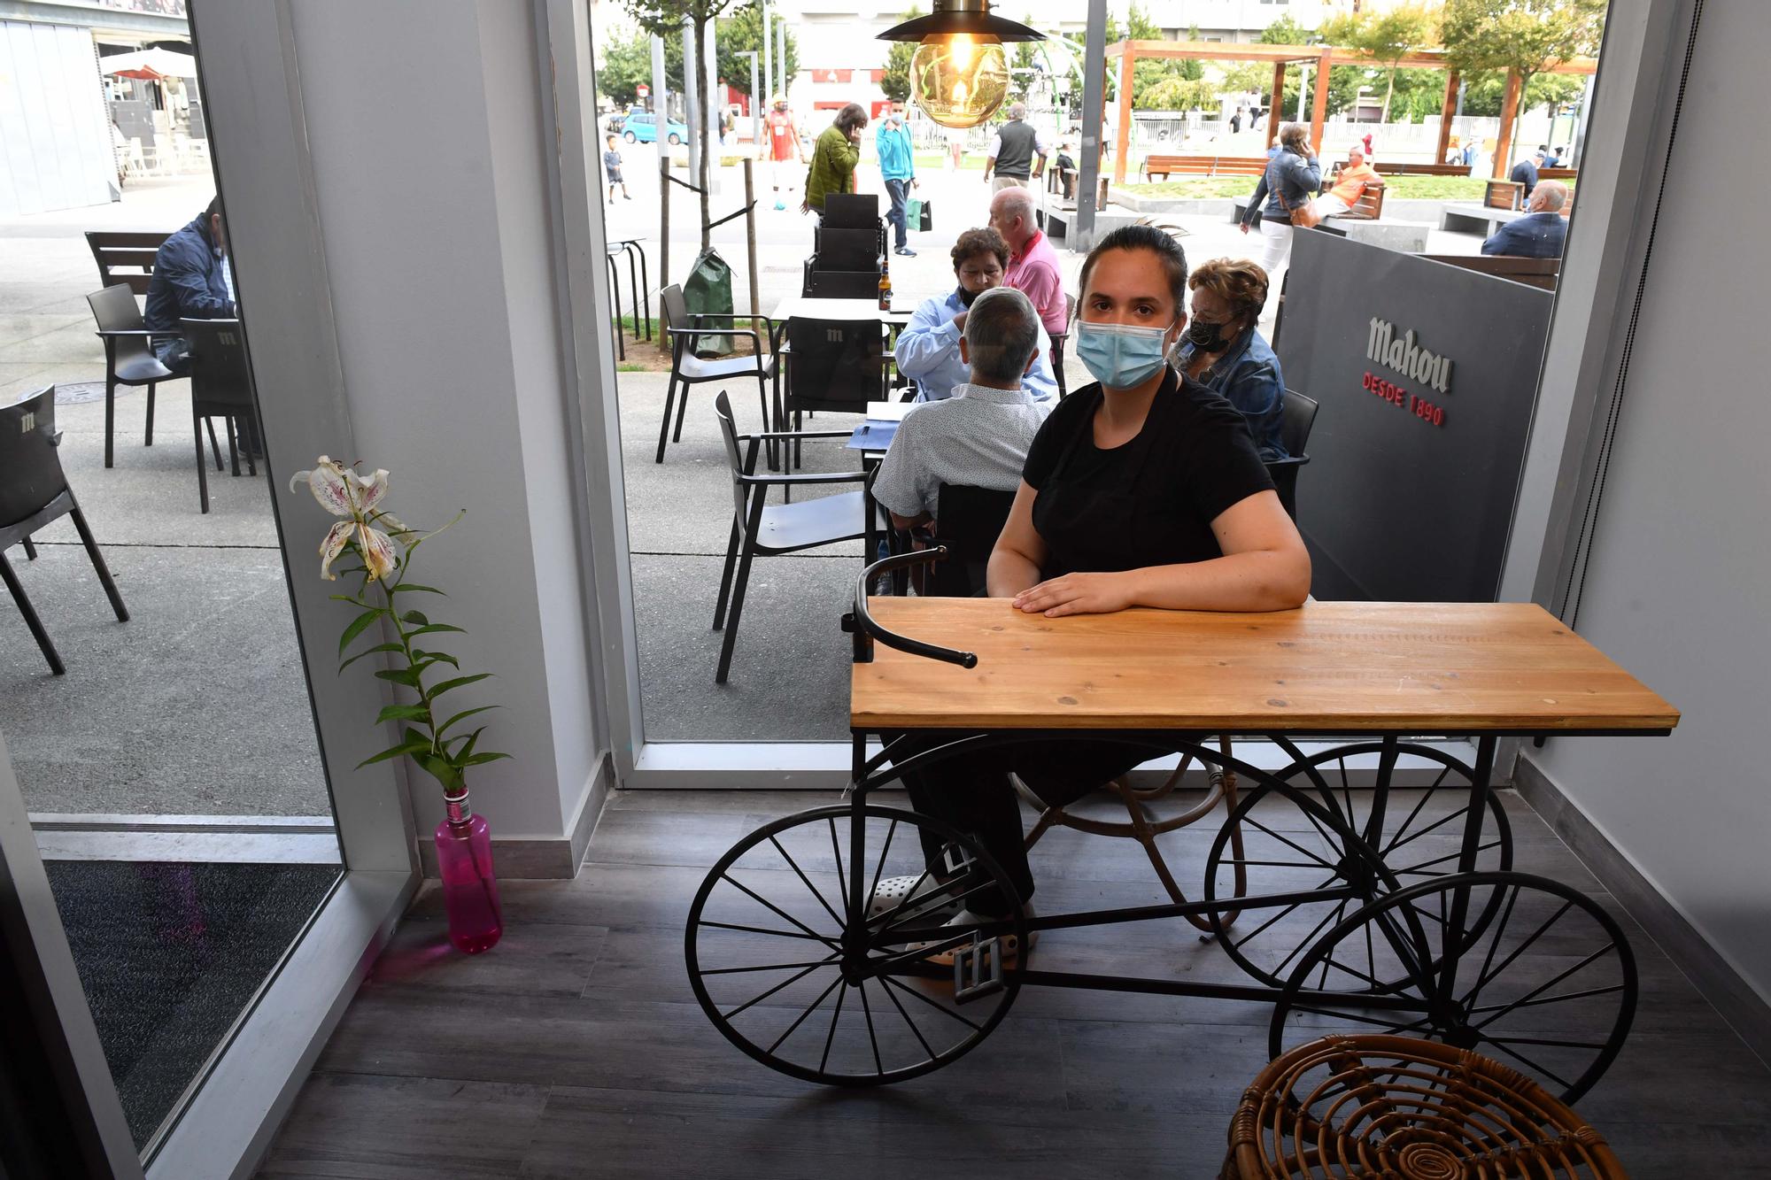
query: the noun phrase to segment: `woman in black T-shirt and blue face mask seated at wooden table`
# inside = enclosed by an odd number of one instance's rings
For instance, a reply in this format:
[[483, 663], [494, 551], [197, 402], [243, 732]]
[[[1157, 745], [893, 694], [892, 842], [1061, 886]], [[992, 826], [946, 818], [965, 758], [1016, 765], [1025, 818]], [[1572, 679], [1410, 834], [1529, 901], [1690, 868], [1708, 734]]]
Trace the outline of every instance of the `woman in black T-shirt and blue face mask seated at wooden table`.
[[[1094, 246], [1082, 264], [1071, 340], [1096, 383], [1052, 409], [1027, 454], [990, 555], [990, 597], [1047, 618], [1132, 606], [1277, 611], [1303, 602], [1311, 558], [1243, 416], [1164, 360], [1185, 326], [1187, 257], [1172, 237], [1130, 225]], [[909, 757], [951, 737], [900, 749]], [[1064, 804], [1156, 753], [1029, 741], [946, 758], [903, 781], [916, 810], [972, 833], [1025, 902], [1032, 875], [1008, 772]], [[875, 904], [910, 881], [882, 882]], [[930, 882], [923, 889], [935, 888]], [[988, 886], [965, 905], [953, 923], [1011, 909]]]

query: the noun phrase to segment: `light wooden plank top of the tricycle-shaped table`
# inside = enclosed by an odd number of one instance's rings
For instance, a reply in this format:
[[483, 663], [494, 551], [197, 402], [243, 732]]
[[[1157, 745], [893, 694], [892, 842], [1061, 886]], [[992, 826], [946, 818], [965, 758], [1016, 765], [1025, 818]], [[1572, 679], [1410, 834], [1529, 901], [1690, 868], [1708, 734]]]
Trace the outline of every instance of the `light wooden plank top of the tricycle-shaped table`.
[[1311, 602], [1268, 615], [1045, 618], [1004, 599], [870, 599], [960, 668], [875, 645], [850, 725], [1208, 734], [1665, 732], [1679, 710], [1530, 602]]

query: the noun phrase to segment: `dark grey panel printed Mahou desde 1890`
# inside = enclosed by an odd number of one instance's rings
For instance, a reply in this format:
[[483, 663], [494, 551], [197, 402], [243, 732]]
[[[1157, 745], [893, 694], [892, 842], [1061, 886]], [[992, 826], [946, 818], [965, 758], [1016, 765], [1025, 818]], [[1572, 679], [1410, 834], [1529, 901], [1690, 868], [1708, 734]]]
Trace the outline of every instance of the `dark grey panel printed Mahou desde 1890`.
[[1548, 291], [1293, 236], [1279, 361], [1321, 402], [1298, 526], [1323, 599], [1493, 601], [1550, 324]]

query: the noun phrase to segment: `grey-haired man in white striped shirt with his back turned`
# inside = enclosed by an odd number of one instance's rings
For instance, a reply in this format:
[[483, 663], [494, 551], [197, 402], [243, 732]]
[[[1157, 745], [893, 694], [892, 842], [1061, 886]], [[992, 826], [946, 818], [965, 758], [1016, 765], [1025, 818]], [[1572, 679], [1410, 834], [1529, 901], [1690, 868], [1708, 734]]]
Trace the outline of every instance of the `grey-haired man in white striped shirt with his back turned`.
[[1040, 312], [1013, 287], [978, 296], [960, 340], [971, 381], [903, 416], [873, 480], [873, 498], [896, 528], [932, 521], [942, 484], [1020, 487], [1027, 448], [1052, 406], [1034, 400], [1024, 384], [1045, 354], [1043, 335]]

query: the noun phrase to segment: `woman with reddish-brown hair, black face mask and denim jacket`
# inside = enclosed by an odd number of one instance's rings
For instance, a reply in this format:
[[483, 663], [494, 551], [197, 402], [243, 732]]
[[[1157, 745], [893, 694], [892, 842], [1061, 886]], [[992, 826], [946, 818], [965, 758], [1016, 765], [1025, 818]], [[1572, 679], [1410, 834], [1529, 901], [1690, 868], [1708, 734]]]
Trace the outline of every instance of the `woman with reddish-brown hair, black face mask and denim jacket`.
[[1211, 259], [1187, 285], [1194, 315], [1171, 358], [1174, 367], [1241, 411], [1263, 461], [1284, 459], [1286, 379], [1279, 356], [1254, 328], [1266, 307], [1266, 271], [1245, 259]]

